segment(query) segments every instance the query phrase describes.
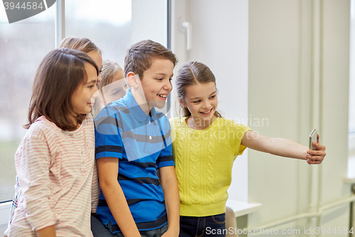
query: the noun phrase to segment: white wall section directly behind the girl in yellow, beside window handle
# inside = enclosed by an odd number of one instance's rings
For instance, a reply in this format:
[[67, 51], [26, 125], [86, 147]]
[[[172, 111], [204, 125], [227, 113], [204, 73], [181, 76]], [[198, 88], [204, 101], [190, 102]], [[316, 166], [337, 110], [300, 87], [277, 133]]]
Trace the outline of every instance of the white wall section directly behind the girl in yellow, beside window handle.
[[[173, 51], [180, 64], [200, 61], [212, 70], [219, 90], [218, 109], [226, 118], [246, 123], [248, 118], [248, 1], [187, 0], [173, 1], [185, 10], [182, 19], [192, 23], [192, 49], [185, 51], [185, 32], [174, 31]], [[174, 6], [174, 5], [173, 5]], [[178, 22], [175, 21], [175, 28]], [[182, 48], [183, 47], [183, 48]], [[248, 200], [247, 152], [234, 163], [234, 176], [229, 197]]]

